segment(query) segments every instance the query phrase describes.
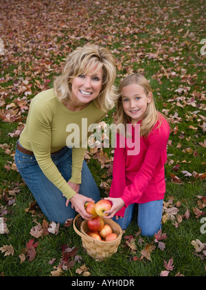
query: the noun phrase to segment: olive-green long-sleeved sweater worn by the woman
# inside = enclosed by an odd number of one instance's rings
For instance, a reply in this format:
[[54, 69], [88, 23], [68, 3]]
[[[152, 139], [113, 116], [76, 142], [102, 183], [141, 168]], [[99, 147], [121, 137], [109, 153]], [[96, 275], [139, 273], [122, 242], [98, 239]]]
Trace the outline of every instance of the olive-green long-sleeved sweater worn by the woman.
[[52, 161], [51, 153], [64, 146], [71, 146], [72, 173], [69, 180], [81, 183], [82, 162], [87, 149], [87, 139], [91, 134], [88, 133], [88, 127], [100, 122], [105, 115], [93, 102], [81, 111], [70, 111], [56, 98], [54, 89], [38, 93], [30, 104], [19, 143], [34, 152], [41, 170], [67, 199], [76, 192], [60, 174]]

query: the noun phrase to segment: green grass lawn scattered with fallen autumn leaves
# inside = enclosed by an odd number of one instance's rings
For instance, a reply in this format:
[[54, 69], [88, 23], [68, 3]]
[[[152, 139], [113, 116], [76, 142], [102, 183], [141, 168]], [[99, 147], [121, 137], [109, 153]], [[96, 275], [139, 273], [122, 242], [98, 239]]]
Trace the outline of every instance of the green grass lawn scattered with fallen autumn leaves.
[[[1, 4], [0, 276], [205, 276], [205, 8], [203, 0]], [[87, 255], [72, 224], [47, 221], [14, 163], [30, 100], [53, 86], [69, 52], [86, 43], [111, 50], [116, 86], [144, 74], [171, 128], [162, 230], [143, 237], [134, 219], [104, 262]], [[88, 148], [85, 159], [106, 197], [113, 148]]]

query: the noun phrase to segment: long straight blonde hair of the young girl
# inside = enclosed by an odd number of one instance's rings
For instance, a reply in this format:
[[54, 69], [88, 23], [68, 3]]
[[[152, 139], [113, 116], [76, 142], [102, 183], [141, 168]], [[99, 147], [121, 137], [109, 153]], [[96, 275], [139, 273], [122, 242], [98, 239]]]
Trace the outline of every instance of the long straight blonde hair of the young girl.
[[[122, 82], [119, 85], [119, 91], [118, 91], [119, 98], [117, 100], [117, 113], [115, 115], [115, 122], [116, 124], [124, 124], [125, 128], [126, 128], [126, 124], [130, 122], [130, 117], [126, 115], [122, 106], [122, 89], [128, 85], [133, 85], [133, 84], [137, 84], [143, 87], [147, 96], [148, 96], [148, 93], [150, 92], [152, 93], [150, 83], [141, 74], [132, 74], [130, 76], [126, 76], [126, 78], [122, 80]], [[163, 114], [157, 111], [155, 107], [155, 102], [152, 96], [151, 102], [148, 103], [146, 112], [144, 113], [143, 120], [141, 120], [141, 124], [140, 124], [141, 136], [147, 137], [158, 120], [159, 120], [159, 126], [161, 126], [162, 120], [160, 118], [160, 115], [163, 115]]]

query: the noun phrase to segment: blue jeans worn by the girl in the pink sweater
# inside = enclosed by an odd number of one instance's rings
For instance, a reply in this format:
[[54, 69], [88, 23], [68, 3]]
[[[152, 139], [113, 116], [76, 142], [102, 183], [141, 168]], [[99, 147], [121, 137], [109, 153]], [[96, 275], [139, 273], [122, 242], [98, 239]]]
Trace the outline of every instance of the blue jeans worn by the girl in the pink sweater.
[[[124, 217], [121, 219], [115, 219], [122, 230], [126, 230], [133, 218], [133, 210], [135, 203], [128, 205], [125, 210]], [[154, 236], [159, 230], [161, 230], [161, 216], [163, 208], [163, 199], [159, 201], [150, 201], [148, 203], [138, 204], [137, 225], [141, 229], [142, 236]]]

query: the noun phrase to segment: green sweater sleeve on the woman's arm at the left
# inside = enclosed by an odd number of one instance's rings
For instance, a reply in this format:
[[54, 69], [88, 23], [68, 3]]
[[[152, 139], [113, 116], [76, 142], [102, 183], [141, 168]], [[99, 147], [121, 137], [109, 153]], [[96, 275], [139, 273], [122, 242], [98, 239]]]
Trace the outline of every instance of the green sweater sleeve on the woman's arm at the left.
[[30, 106], [29, 113], [28, 133], [36, 161], [45, 176], [54, 183], [67, 199], [70, 199], [76, 192], [62, 177], [51, 158], [52, 111], [43, 100], [35, 100]]

